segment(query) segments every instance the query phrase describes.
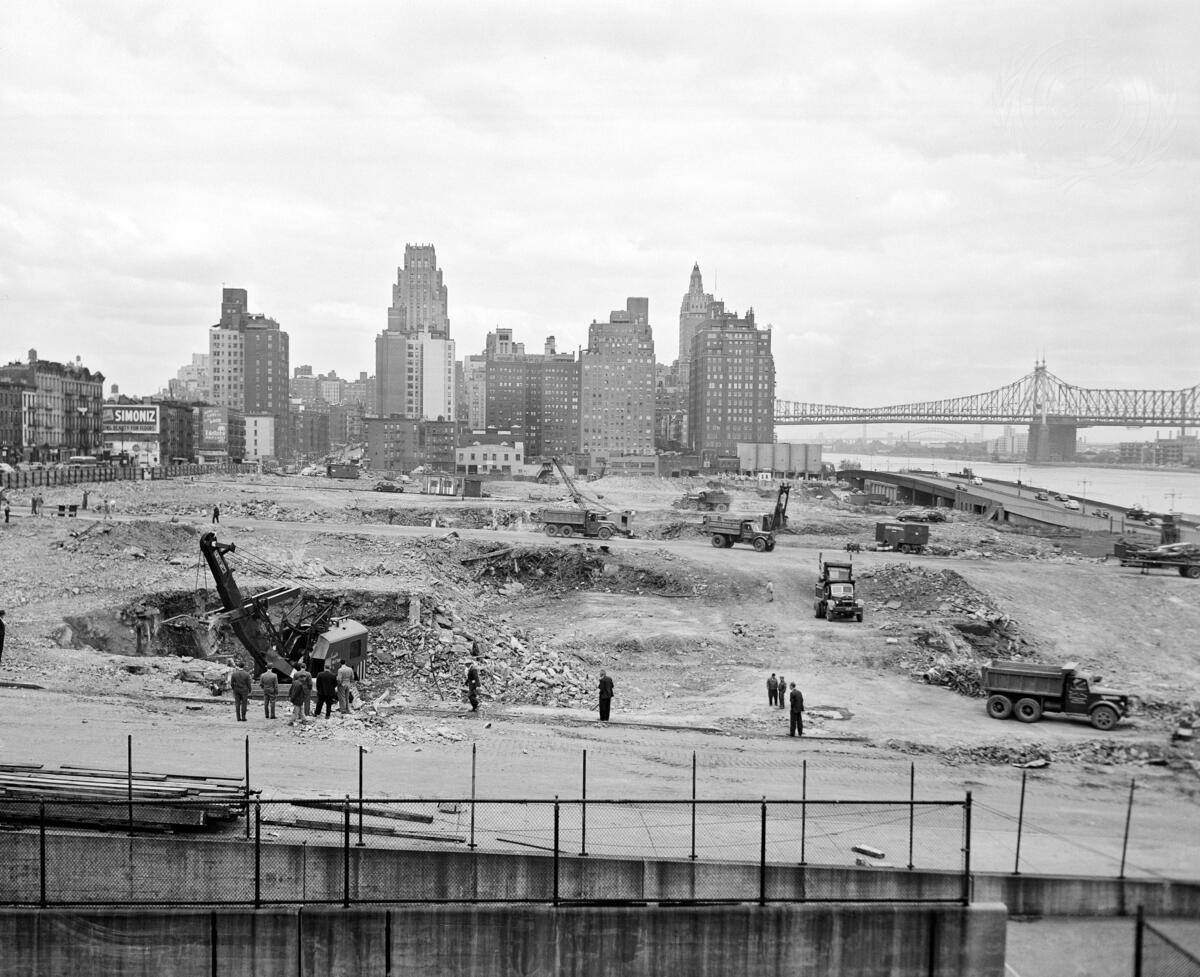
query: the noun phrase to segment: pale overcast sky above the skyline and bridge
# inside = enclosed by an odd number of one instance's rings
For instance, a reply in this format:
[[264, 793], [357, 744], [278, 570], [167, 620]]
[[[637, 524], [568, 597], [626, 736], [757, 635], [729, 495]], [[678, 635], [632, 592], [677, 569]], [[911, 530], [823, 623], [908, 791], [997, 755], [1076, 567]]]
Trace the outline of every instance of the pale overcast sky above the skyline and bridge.
[[373, 372], [406, 242], [458, 355], [694, 262], [778, 394], [853, 406], [1200, 382], [1200, 5], [0, 4], [0, 360], [124, 392], [222, 284], [292, 364]]

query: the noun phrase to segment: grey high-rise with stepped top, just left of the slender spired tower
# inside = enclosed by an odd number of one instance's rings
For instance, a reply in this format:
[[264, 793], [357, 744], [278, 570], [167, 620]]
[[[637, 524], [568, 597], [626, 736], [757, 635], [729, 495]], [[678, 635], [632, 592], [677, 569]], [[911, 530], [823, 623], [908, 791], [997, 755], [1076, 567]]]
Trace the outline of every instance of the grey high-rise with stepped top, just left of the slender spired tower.
[[580, 358], [580, 450], [654, 454], [654, 335], [649, 299], [631, 298], [588, 326]]

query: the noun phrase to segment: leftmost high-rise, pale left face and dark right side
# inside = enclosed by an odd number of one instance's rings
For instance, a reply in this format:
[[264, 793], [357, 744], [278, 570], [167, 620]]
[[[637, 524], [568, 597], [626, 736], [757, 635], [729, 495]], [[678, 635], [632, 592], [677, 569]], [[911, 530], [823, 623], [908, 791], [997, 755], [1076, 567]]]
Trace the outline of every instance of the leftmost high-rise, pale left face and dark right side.
[[221, 292], [221, 322], [209, 329], [212, 402], [253, 414], [288, 410], [288, 334], [246, 311], [245, 288]]

